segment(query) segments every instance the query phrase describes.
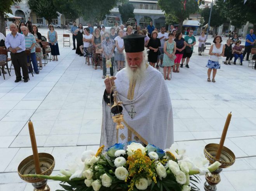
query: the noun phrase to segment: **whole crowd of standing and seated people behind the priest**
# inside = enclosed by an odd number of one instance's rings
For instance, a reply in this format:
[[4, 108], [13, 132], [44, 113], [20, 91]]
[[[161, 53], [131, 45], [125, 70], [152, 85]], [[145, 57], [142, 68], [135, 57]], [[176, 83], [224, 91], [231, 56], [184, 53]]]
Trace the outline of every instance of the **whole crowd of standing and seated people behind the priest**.
[[[76, 50], [76, 54], [84, 56], [88, 65], [94, 65], [94, 69], [97, 70], [97, 66], [103, 70], [104, 79], [106, 77], [106, 68], [110, 68], [110, 74], [113, 75], [113, 65], [117, 63], [117, 71], [124, 68], [125, 56], [124, 56], [124, 36], [133, 34], [132, 26], [127, 26], [124, 31], [124, 25], [118, 26], [118, 22], [111, 27], [110, 32], [105, 31], [105, 27], [98, 26], [95, 30], [88, 24], [88, 27], [83, 27], [80, 23], [73, 22], [71, 27], [71, 34], [73, 36], [73, 50]], [[42, 35], [38, 32], [38, 28], [32, 25], [31, 19], [28, 22], [20, 22], [16, 20], [10, 25], [11, 33], [5, 36], [0, 34], [0, 49], [9, 49], [12, 64], [14, 65], [16, 73], [16, 82], [21, 80], [20, 68], [23, 70], [24, 82], [27, 82], [28, 73], [34, 72], [39, 73], [42, 69], [42, 58], [43, 58], [43, 45]], [[167, 33], [169, 32], [169, 33]], [[193, 30], [190, 29], [188, 35], [183, 38], [182, 32], [177, 32], [173, 25], [171, 25], [170, 31], [167, 31], [164, 26], [158, 29], [153, 26], [153, 22], [146, 27], [141, 29], [141, 26], [136, 26], [134, 34], [144, 35], [145, 48], [148, 49], [148, 62], [153, 68], [164, 68], [164, 79], [171, 80], [170, 73], [179, 73], [179, 68], [183, 68], [185, 64], [186, 68], [189, 67], [189, 61], [193, 54], [193, 47], [196, 44], [196, 38], [193, 36]], [[224, 64], [231, 65], [232, 58], [234, 57], [233, 64], [236, 64], [239, 59], [240, 65], [243, 63], [243, 58], [246, 56], [246, 60], [249, 60], [249, 54], [251, 48], [254, 46], [256, 39], [253, 34], [253, 29], [246, 35], [246, 44], [244, 51], [241, 46], [241, 41], [237, 34], [233, 35], [232, 39], [228, 39], [226, 44], [221, 44], [222, 39], [220, 36], [216, 36], [213, 41], [213, 45], [209, 50], [210, 58], [206, 67], [208, 68], [208, 82], [216, 82], [215, 76], [217, 69], [220, 68], [221, 56], [225, 56], [226, 60]], [[47, 39], [51, 48], [51, 55], [53, 56], [52, 61], [58, 61], [59, 46], [57, 32], [54, 30], [52, 24], [49, 25], [49, 31], [47, 32]], [[205, 49], [206, 36], [204, 31], [198, 38], [199, 47], [198, 54], [202, 56], [202, 52]], [[77, 41], [77, 44], [75, 43]], [[40, 48], [41, 52], [35, 52], [35, 48]], [[30, 59], [33, 65], [27, 67], [29, 57], [25, 51], [30, 51]], [[0, 61], [5, 61], [6, 56], [0, 55]], [[39, 67], [38, 67], [39, 61]], [[115, 63], [116, 62], [116, 63]], [[32, 66], [31, 65], [31, 66]], [[25, 69], [26, 68], [26, 69]], [[211, 71], [212, 80], [210, 78]], [[6, 73], [4, 71], [4, 73]]]

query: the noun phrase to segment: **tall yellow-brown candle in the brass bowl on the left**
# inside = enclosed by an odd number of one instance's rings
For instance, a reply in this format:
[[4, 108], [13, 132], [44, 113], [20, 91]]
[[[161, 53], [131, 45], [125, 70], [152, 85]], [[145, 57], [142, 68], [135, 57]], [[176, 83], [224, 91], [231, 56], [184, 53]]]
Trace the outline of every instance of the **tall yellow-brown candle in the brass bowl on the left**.
[[35, 170], [36, 170], [37, 174], [41, 174], [39, 156], [38, 156], [38, 152], [37, 152], [37, 141], [36, 141], [36, 137], [35, 137], [33, 123], [31, 121], [28, 122], [28, 130], [30, 131], [30, 140], [31, 140], [31, 146], [32, 146], [32, 150], [33, 150]]

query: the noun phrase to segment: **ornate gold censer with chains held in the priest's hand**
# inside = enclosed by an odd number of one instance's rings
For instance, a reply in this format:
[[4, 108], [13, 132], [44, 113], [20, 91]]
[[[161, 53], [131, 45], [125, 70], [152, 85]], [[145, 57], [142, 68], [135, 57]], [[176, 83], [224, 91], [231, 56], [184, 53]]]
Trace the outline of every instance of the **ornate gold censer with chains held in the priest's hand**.
[[111, 92], [112, 92], [114, 102], [113, 102], [113, 105], [111, 105], [111, 96], [109, 95], [108, 99], [110, 99], [110, 103], [108, 104], [108, 106], [111, 107], [110, 109], [111, 113], [114, 114], [114, 116], [112, 117], [113, 122], [117, 123], [116, 130], [117, 130], [117, 143], [118, 143], [118, 130], [124, 128], [124, 125], [122, 124], [122, 122], [124, 121], [124, 115], [122, 114], [123, 107], [121, 106], [123, 102], [120, 101], [118, 97], [117, 87], [115, 86], [115, 82], [113, 78], [109, 77], [108, 75], [106, 76], [106, 78], [110, 79]]

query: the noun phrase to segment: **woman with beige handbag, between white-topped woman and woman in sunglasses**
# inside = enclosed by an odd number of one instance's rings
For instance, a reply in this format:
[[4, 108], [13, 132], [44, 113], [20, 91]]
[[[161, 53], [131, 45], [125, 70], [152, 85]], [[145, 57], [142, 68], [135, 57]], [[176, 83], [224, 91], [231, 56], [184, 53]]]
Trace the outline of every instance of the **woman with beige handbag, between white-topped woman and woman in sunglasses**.
[[94, 31], [94, 36], [92, 38], [93, 44], [93, 58], [94, 58], [94, 69], [97, 70], [97, 63], [100, 61], [101, 70], [102, 68], [102, 48], [101, 48], [101, 35], [98, 28]]

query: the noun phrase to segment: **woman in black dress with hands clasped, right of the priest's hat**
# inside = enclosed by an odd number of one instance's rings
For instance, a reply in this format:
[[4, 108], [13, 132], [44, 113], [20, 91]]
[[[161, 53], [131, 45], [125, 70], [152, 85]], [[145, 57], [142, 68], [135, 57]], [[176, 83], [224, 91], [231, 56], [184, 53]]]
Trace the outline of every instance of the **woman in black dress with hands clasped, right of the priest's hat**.
[[148, 61], [152, 67], [155, 68], [155, 63], [157, 62], [157, 57], [160, 55], [159, 47], [161, 46], [160, 39], [157, 38], [157, 31], [153, 31], [151, 34], [151, 38], [148, 42]]

